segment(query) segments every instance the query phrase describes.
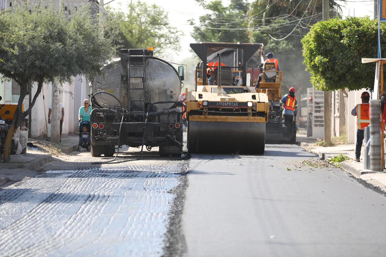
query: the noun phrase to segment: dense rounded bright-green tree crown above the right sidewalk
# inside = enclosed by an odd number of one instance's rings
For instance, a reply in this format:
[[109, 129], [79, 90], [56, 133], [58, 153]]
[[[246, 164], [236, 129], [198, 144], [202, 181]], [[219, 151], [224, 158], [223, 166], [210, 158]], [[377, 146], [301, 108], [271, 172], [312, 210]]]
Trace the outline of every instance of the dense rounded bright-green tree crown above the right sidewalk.
[[[362, 64], [361, 58], [377, 57], [377, 31], [377, 21], [369, 17], [330, 19], [313, 25], [301, 41], [312, 85], [324, 91], [372, 88], [375, 66]], [[381, 31], [386, 31], [385, 24]], [[384, 42], [383, 37], [381, 52], [386, 51]]]

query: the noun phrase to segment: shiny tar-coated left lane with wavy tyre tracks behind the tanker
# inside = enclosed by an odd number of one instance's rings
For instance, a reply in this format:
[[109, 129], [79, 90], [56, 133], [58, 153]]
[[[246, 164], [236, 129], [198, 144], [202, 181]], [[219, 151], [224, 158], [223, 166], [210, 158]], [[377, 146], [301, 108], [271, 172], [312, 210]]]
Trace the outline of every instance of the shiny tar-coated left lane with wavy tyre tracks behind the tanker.
[[0, 188], [0, 256], [162, 255], [187, 167], [155, 156], [93, 165], [103, 158], [83, 153]]

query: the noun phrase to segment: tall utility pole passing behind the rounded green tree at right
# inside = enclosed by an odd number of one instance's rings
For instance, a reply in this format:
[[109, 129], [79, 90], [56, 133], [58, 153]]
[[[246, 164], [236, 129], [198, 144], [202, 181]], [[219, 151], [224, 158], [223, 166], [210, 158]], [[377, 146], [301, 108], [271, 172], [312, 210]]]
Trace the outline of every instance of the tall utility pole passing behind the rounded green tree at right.
[[[328, 0], [323, 1], [323, 21], [330, 19], [330, 8], [328, 6]], [[326, 145], [331, 145], [331, 93], [324, 91], [323, 100], [323, 116], [324, 116], [324, 142]]]

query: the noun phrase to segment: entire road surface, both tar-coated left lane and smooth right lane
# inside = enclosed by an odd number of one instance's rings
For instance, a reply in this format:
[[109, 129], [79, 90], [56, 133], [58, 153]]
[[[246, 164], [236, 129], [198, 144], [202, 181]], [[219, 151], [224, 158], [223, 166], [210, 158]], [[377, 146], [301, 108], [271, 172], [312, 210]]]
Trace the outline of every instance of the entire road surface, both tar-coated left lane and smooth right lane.
[[318, 161], [296, 145], [266, 145], [263, 156], [178, 159], [147, 152], [139, 161], [91, 164], [101, 160], [83, 153], [0, 187], [0, 255], [375, 256], [386, 250], [386, 198], [338, 168], [301, 164]]

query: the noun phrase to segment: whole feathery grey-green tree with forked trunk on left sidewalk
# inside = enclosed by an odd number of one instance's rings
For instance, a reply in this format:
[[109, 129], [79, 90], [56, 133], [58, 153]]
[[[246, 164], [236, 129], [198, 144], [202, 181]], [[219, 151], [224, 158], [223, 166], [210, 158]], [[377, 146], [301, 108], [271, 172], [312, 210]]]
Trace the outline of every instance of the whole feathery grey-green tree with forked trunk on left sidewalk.
[[[115, 54], [113, 41], [118, 26], [105, 16], [98, 24], [90, 17], [87, 5], [64, 14], [64, 4], [30, 2], [16, 4], [14, 10], [0, 13], [0, 73], [20, 86], [14, 121], [4, 145], [4, 162], [10, 162], [12, 136], [27, 117], [40, 94], [43, 83], [71, 82], [77, 74], [95, 76]], [[31, 105], [22, 112], [29, 93], [29, 82], [37, 91]]]

